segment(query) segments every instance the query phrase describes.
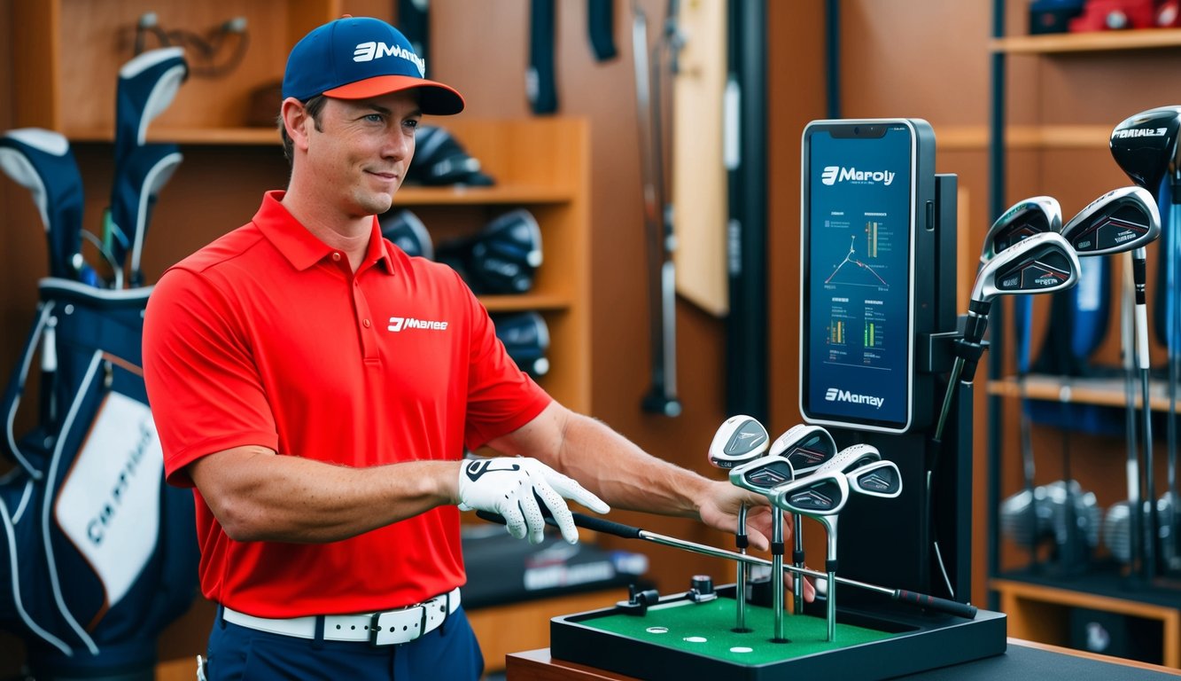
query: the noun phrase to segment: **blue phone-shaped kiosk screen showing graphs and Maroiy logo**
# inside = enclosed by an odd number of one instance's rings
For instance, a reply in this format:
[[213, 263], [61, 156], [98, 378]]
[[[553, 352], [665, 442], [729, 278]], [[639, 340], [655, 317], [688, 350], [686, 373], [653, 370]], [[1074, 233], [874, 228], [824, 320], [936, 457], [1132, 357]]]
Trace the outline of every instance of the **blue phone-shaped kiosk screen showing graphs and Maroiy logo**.
[[805, 413], [820, 422], [905, 428], [913, 370], [912, 130], [822, 128], [805, 138]]

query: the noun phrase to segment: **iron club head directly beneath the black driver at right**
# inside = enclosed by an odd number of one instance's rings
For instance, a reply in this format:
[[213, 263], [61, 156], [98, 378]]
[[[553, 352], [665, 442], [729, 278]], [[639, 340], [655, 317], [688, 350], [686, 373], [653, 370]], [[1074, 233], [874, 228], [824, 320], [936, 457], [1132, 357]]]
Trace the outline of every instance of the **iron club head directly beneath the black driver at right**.
[[1062, 227], [1079, 257], [1135, 251], [1161, 234], [1156, 200], [1142, 187], [1121, 187], [1091, 201]]

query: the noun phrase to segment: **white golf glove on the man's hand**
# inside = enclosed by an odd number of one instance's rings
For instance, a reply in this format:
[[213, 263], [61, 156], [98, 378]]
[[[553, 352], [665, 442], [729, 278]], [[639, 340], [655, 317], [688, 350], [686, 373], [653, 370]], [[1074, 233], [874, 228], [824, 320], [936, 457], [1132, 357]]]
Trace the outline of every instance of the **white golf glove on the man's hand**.
[[595, 513], [611, 511], [602, 499], [536, 459], [472, 459], [459, 468], [459, 510], [498, 513], [509, 534], [517, 539], [528, 534], [530, 544], [544, 538], [546, 518], [539, 500], [549, 508], [562, 538], [578, 544], [579, 530], [563, 497]]

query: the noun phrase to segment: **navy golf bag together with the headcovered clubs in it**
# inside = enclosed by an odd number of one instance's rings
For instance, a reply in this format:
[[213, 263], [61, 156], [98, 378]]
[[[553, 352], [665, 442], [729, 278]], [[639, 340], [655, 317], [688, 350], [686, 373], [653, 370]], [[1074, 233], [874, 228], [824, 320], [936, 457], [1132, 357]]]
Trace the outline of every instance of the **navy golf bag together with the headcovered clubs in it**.
[[[157, 636], [197, 595], [193, 495], [164, 484], [141, 348], [144, 236], [181, 162], [146, 130], [188, 69], [182, 48], [162, 47], [119, 70], [102, 238], [83, 228], [66, 137], [0, 136], [0, 169], [32, 194], [48, 242], [0, 408], [0, 628], [24, 640], [37, 679], [155, 677]], [[102, 262], [84, 258], [84, 238]], [[22, 404], [27, 388], [39, 400]]]

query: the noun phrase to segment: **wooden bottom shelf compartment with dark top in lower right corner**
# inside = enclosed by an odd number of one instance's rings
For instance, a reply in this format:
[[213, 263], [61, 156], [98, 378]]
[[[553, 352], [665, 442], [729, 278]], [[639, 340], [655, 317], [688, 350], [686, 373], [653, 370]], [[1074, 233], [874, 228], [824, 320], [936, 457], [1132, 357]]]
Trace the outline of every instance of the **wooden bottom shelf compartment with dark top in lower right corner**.
[[1014, 638], [1069, 646], [1070, 611], [1098, 610], [1136, 617], [1161, 625], [1161, 657], [1166, 667], [1181, 667], [1181, 591], [1135, 589], [1116, 573], [1051, 578], [1029, 571], [1003, 573], [988, 581], [1000, 595]]

